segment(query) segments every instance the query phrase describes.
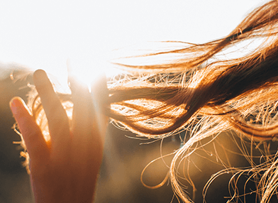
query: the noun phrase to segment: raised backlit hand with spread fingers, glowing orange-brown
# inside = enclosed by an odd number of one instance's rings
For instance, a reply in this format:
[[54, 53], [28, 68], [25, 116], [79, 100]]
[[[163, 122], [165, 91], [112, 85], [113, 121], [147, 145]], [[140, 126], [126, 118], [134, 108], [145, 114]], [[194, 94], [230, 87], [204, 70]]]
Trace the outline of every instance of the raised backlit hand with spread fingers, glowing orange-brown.
[[45, 141], [21, 98], [13, 98], [10, 106], [30, 155], [35, 202], [91, 203], [108, 121], [101, 106], [108, 98], [106, 80], [91, 88], [91, 97], [86, 85], [70, 77], [72, 126], [46, 73], [35, 71], [33, 81], [48, 119], [50, 141]]

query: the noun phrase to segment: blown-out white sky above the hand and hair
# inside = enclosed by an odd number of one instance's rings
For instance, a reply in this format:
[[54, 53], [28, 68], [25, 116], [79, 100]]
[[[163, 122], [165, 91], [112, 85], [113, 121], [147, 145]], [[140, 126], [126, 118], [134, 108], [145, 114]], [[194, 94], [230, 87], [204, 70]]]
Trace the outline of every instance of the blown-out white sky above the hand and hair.
[[[90, 77], [111, 50], [146, 41], [204, 43], [235, 28], [262, 0], [0, 1], [0, 62]], [[109, 70], [111, 72], [111, 70]]]

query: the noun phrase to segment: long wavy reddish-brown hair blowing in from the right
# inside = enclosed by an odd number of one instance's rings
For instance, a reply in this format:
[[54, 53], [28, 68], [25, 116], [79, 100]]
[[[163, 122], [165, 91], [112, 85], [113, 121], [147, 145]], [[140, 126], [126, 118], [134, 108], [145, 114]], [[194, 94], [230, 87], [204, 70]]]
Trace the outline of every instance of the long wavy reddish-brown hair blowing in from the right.
[[[130, 75], [109, 82], [106, 114], [119, 126], [148, 138], [190, 132], [189, 140], [175, 152], [169, 179], [182, 201], [191, 202], [177, 180], [177, 160], [187, 158], [195, 143], [231, 130], [255, 141], [278, 137], [278, 2], [252, 11], [225, 38], [181, 44], [182, 48], [141, 56], [174, 56], [168, 62], [115, 63]], [[245, 51], [245, 44], [255, 48]], [[221, 57], [230, 48], [245, 53]], [[30, 99], [34, 116], [41, 111], [37, 101]], [[268, 202], [277, 189], [277, 162], [261, 166], [265, 167], [257, 188], [261, 202]]]

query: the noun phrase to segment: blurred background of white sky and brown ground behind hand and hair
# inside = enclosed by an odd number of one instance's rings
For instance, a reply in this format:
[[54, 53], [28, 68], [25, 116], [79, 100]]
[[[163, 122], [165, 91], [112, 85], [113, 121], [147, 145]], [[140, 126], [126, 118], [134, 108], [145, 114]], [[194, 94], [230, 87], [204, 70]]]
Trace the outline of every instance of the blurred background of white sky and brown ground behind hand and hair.
[[[62, 84], [67, 78], [66, 60], [83, 81], [90, 82], [98, 72], [107, 75], [117, 70], [107, 62], [121, 50], [145, 42], [164, 40], [205, 43], [221, 38], [243, 20], [260, 0], [144, 0], [144, 1], [1, 1], [0, 2], [0, 203], [33, 202], [26, 170], [21, 166], [19, 136], [13, 132], [9, 101], [14, 96], [26, 99], [31, 72], [44, 69]], [[141, 51], [150, 51], [143, 49]], [[11, 80], [11, 72], [24, 75]], [[99, 175], [95, 202], [178, 202], [169, 182], [150, 190], [140, 182], [148, 163], [177, 150], [180, 137], [172, 136], [150, 143], [109, 125], [104, 161]], [[162, 150], [161, 150], [162, 146]], [[240, 147], [238, 147], [240, 146]], [[271, 143], [277, 149], [276, 143]], [[262, 146], [263, 147], [263, 146]], [[223, 148], [228, 150], [224, 153]], [[235, 136], [223, 134], [191, 156], [188, 169], [196, 185], [196, 202], [202, 202], [202, 189], [209, 177], [223, 169], [221, 160], [233, 166], [249, 165], [240, 148], [250, 150]], [[232, 152], [232, 153], [229, 153]], [[216, 153], [217, 152], [217, 153]], [[160, 184], [167, 175], [171, 156], [157, 160], [143, 174], [145, 184]], [[222, 175], [208, 188], [207, 202], [227, 202], [228, 180]], [[244, 186], [246, 177], [239, 180]], [[182, 181], [182, 180], [181, 180]], [[188, 187], [192, 197], [192, 187]], [[247, 185], [248, 191], [254, 184]], [[243, 189], [243, 188], [242, 188]], [[249, 200], [255, 200], [255, 194]], [[274, 201], [274, 200], [273, 200]]]

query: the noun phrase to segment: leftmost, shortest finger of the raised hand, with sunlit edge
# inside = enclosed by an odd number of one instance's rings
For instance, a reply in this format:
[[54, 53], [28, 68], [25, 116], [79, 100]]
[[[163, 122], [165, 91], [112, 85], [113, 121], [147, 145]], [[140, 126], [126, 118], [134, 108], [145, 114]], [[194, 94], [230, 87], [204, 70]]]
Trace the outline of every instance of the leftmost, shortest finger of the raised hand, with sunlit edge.
[[10, 101], [10, 106], [30, 158], [45, 161], [44, 157], [49, 155], [49, 148], [39, 126], [35, 123], [33, 116], [30, 115], [26, 104], [21, 98], [14, 97]]

